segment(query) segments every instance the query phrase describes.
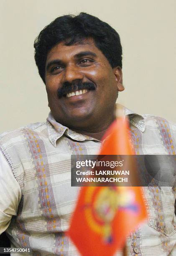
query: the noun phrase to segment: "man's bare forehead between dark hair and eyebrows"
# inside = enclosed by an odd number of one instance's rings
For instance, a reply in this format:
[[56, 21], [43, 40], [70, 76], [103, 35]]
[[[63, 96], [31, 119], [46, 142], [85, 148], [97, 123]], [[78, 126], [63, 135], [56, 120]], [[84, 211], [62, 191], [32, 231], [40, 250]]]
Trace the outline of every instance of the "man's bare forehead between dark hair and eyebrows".
[[102, 51], [100, 51], [97, 46], [95, 46], [94, 41], [92, 39], [84, 40], [83, 43], [76, 43], [73, 45], [66, 46], [64, 42], [61, 42], [54, 46], [47, 54], [46, 64], [48, 61], [52, 61], [54, 59], [71, 59], [74, 58], [77, 54], [83, 51], [90, 51], [96, 54], [98, 59], [102, 59], [103, 61], [107, 61]]

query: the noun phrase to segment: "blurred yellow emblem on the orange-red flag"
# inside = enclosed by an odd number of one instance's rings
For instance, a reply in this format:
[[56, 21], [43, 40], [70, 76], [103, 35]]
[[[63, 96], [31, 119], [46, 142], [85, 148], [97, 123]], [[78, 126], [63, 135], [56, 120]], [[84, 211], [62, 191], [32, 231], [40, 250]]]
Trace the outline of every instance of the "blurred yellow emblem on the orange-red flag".
[[85, 218], [87, 225], [102, 236], [104, 243], [113, 242], [112, 228], [117, 210], [138, 213], [132, 190], [124, 187], [89, 187], [84, 199]]

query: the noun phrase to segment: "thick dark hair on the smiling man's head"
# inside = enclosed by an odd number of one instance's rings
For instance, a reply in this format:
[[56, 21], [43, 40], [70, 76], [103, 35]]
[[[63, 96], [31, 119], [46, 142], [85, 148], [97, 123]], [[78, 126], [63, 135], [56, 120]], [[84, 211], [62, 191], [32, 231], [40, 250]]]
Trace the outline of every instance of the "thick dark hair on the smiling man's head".
[[122, 68], [122, 46], [114, 28], [87, 13], [64, 15], [43, 28], [34, 41], [35, 61], [43, 82], [48, 52], [62, 41], [65, 45], [73, 45], [82, 43], [86, 38], [94, 39], [96, 47], [102, 51], [112, 68]]

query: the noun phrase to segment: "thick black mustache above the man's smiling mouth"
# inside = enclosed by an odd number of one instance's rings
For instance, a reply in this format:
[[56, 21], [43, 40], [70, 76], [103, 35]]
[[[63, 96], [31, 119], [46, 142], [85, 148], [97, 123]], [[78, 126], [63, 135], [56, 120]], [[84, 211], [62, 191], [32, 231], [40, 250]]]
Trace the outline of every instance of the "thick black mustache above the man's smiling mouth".
[[67, 93], [69, 92], [76, 92], [79, 90], [95, 90], [96, 86], [92, 82], [77, 82], [77, 83], [69, 83], [69, 82], [64, 82], [63, 86], [58, 89], [57, 91], [57, 96], [59, 98], [66, 96]]

